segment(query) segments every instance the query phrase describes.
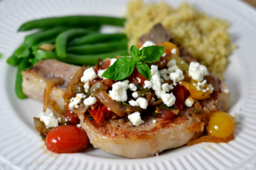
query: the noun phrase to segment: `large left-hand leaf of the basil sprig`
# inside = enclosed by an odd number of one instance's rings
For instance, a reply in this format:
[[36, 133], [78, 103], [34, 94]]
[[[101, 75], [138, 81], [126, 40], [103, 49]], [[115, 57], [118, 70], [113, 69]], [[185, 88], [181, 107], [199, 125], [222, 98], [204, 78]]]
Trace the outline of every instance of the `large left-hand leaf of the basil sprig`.
[[134, 66], [135, 62], [130, 57], [120, 57], [108, 67], [107, 71], [104, 71], [102, 77], [111, 80], [123, 80], [131, 75]]

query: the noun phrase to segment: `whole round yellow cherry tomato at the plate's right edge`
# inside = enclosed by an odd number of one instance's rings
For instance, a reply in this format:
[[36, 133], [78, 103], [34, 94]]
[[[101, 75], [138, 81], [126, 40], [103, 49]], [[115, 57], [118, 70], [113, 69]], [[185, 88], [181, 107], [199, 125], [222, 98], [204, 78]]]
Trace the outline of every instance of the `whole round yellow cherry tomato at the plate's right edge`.
[[207, 133], [210, 136], [226, 138], [233, 133], [235, 121], [232, 116], [224, 111], [217, 111], [212, 114], [207, 126]]

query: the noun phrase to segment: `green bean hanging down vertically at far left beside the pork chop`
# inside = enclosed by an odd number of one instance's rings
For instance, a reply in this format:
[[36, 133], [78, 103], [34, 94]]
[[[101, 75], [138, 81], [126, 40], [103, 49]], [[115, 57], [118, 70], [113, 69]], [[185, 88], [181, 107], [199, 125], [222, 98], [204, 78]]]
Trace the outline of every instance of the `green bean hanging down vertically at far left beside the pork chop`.
[[18, 66], [18, 71], [16, 75], [16, 82], [15, 82], [15, 93], [19, 99], [24, 99], [26, 98], [26, 94], [23, 93], [22, 91], [22, 75], [21, 71], [25, 70], [29, 63], [28, 63], [28, 57], [24, 58], [21, 60], [19, 66]]

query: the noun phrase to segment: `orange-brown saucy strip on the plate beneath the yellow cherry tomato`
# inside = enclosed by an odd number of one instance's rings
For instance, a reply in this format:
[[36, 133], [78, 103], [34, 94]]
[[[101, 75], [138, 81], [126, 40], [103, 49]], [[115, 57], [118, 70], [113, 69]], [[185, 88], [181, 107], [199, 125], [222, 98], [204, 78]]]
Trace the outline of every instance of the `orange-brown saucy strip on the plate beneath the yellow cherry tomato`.
[[234, 139], [234, 134], [232, 133], [230, 136], [226, 138], [217, 138], [214, 136], [201, 136], [199, 139], [192, 140], [188, 143], [188, 146], [191, 146], [193, 144], [200, 144], [203, 142], [213, 142], [213, 143], [222, 143], [222, 142], [230, 142], [230, 140]]

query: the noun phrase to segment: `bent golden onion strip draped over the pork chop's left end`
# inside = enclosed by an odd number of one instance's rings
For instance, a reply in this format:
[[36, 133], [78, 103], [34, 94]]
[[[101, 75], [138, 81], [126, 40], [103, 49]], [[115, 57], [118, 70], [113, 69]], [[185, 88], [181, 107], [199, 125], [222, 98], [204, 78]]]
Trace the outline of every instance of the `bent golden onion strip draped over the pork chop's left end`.
[[62, 84], [63, 82], [64, 80], [61, 77], [51, 78], [49, 79], [49, 81], [47, 81], [46, 87], [44, 88], [44, 111], [46, 111], [49, 104], [52, 88], [55, 85]]

